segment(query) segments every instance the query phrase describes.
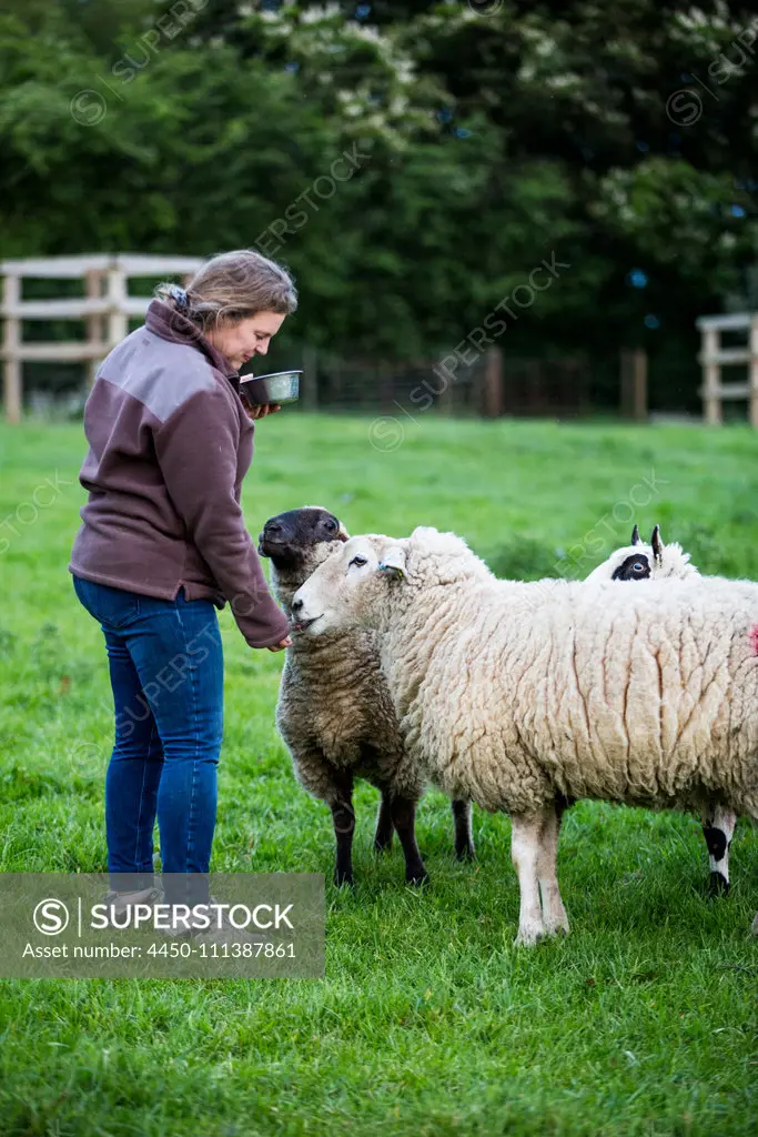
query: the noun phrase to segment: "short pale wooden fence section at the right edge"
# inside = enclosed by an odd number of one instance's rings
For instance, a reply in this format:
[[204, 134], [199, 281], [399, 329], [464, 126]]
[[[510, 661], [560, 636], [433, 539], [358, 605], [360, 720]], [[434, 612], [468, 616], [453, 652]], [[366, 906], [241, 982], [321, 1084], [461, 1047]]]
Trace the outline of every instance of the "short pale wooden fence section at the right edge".
[[[747, 399], [750, 425], [758, 430], [758, 314], [740, 312], [726, 316], [702, 316], [698, 322], [702, 337], [699, 359], [702, 366], [703, 420], [711, 426], [724, 421], [725, 399]], [[747, 332], [744, 347], [722, 347], [722, 332]], [[722, 367], [747, 366], [747, 382], [724, 383]]]

